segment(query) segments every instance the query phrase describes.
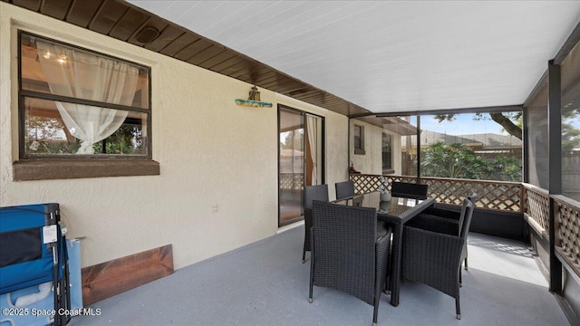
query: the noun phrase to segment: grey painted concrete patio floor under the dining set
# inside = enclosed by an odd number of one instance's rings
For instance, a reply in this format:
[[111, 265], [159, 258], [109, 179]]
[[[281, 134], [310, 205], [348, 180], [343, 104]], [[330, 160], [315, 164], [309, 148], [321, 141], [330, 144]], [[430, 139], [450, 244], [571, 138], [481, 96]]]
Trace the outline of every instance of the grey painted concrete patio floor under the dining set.
[[[179, 269], [163, 279], [96, 302], [100, 316], [70, 325], [371, 325], [372, 306], [314, 287], [301, 264], [304, 225], [233, 252]], [[469, 235], [462, 319], [446, 294], [404, 281], [401, 304], [383, 294], [379, 325], [569, 325], [527, 246]]]

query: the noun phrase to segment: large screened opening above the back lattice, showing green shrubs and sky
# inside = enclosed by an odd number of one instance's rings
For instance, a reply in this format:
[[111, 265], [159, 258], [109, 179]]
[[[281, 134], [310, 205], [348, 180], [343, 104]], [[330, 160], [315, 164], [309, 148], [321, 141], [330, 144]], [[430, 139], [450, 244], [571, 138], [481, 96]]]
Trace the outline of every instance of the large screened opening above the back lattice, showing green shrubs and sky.
[[420, 176], [521, 182], [521, 119], [521, 111], [420, 116]]

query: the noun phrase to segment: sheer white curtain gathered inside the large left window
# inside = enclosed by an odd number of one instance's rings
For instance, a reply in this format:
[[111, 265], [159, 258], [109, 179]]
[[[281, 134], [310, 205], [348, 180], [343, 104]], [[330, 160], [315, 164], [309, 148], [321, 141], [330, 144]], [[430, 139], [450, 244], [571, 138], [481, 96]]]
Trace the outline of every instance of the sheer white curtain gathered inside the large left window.
[[[77, 99], [131, 105], [139, 69], [125, 62], [36, 42], [38, 59], [53, 94]], [[92, 144], [111, 136], [128, 111], [56, 101], [66, 128], [81, 139], [77, 154], [94, 154]]]

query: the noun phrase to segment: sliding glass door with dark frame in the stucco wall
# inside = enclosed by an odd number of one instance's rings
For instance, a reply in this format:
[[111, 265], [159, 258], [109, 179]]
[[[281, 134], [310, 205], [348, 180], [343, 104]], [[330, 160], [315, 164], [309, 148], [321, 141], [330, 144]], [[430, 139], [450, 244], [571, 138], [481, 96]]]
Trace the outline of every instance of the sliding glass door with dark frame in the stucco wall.
[[324, 119], [278, 107], [278, 225], [304, 216], [304, 187], [324, 183]]

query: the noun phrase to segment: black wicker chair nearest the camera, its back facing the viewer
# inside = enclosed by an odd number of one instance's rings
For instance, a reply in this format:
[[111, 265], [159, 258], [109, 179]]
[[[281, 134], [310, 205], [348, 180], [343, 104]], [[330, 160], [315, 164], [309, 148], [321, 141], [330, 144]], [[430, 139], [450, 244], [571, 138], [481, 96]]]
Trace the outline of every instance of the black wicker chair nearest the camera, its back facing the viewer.
[[314, 285], [348, 292], [374, 307], [372, 323], [376, 324], [391, 228], [377, 232], [376, 209], [368, 207], [315, 201], [313, 217], [308, 301], [313, 301]]

